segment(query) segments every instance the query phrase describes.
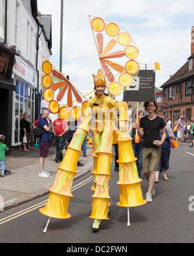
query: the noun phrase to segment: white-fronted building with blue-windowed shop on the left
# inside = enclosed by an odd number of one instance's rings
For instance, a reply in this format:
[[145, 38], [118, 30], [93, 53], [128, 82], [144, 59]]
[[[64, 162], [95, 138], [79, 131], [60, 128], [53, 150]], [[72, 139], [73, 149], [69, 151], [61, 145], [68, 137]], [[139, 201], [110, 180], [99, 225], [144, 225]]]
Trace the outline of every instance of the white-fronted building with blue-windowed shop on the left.
[[[52, 54], [51, 16], [43, 17], [43, 23], [50, 26], [50, 32], [48, 28], [46, 32], [41, 24], [37, 0], [0, 0], [0, 51], [11, 52], [14, 56], [8, 81], [12, 84], [8, 93], [9, 112], [12, 112], [8, 115], [11, 119], [8, 122], [12, 123], [12, 128], [6, 130], [4, 127], [1, 131], [0, 127], [0, 134], [4, 132], [6, 137], [10, 137], [11, 132], [11, 146], [21, 145], [19, 126], [23, 113], [28, 113], [31, 124], [39, 117], [43, 55], [49, 59]], [[0, 73], [0, 95], [5, 93], [6, 96], [8, 88], [4, 84], [1, 89], [2, 76]]]

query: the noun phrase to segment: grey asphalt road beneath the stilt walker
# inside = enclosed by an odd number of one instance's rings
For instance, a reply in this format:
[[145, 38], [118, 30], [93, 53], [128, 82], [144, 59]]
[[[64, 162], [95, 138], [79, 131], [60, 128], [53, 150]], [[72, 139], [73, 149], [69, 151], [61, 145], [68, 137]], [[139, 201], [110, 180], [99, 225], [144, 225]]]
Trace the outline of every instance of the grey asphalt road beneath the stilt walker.
[[[169, 181], [164, 181], [163, 174], [160, 174], [160, 183], [155, 184], [153, 202], [130, 208], [131, 226], [127, 226], [127, 208], [116, 205], [119, 202], [119, 185], [116, 184], [119, 178], [118, 172], [114, 172], [113, 161], [113, 178], [109, 181], [111, 220], [103, 220], [98, 233], [92, 232], [93, 220], [88, 218], [92, 209], [93, 180], [89, 173], [73, 183], [74, 198], [69, 203], [70, 219], [51, 218], [47, 233], [43, 233], [48, 217], [41, 215], [38, 209], [46, 204], [47, 195], [0, 213], [0, 242], [96, 245], [194, 242], [194, 148], [189, 145], [191, 143], [183, 143], [183, 146], [171, 150], [170, 169], [167, 172]], [[144, 174], [141, 178], [142, 192], [145, 194], [147, 181]]]

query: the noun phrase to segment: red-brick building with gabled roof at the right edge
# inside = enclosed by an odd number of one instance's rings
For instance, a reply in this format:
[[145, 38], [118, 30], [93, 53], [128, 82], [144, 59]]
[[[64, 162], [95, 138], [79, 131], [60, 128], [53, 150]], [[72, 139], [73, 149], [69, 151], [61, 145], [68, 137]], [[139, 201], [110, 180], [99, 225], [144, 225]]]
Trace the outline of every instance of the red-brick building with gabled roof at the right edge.
[[[178, 71], [165, 82], [161, 88], [163, 92], [163, 109], [160, 115], [177, 121], [180, 113], [188, 122], [194, 117], [194, 27], [191, 28], [191, 56]], [[165, 102], [170, 108], [166, 110]]]

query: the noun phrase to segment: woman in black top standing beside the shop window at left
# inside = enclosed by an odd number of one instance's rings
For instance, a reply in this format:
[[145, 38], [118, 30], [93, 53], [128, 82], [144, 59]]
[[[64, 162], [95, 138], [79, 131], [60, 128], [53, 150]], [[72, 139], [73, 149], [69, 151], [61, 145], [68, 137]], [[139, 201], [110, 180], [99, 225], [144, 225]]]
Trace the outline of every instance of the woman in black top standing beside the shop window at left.
[[[30, 152], [29, 150], [29, 138], [30, 138], [30, 132], [31, 132], [31, 128], [30, 128], [30, 122], [28, 122], [28, 113], [24, 113], [23, 114], [23, 119], [21, 119], [21, 146], [23, 148], [24, 152]], [[27, 143], [23, 143], [23, 137], [24, 135], [27, 136]]]

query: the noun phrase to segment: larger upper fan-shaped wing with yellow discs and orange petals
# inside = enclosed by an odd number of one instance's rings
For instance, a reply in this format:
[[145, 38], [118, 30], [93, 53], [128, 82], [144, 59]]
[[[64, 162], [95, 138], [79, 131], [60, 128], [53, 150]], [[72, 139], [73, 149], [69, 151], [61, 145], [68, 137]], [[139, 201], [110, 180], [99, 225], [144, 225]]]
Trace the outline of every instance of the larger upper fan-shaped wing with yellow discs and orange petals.
[[[91, 20], [91, 17], [89, 16], [89, 19], [94, 40], [96, 41], [100, 64], [109, 80], [109, 93], [114, 96], [120, 95], [127, 87], [133, 84], [138, 75], [140, 66], [135, 59], [139, 57], [139, 51], [134, 46], [136, 43], [131, 35], [122, 27], [100, 17], [92, 17]], [[103, 48], [107, 38], [109, 38], [109, 41]], [[117, 51], [111, 52], [113, 48], [117, 48]], [[109, 59], [116, 59], [116, 62]], [[116, 80], [116, 76], [118, 80]]]

